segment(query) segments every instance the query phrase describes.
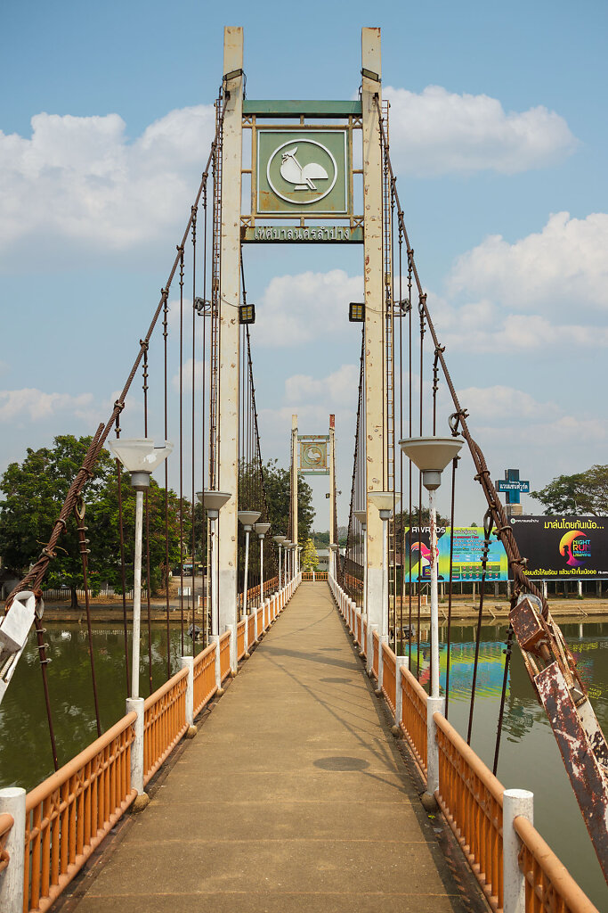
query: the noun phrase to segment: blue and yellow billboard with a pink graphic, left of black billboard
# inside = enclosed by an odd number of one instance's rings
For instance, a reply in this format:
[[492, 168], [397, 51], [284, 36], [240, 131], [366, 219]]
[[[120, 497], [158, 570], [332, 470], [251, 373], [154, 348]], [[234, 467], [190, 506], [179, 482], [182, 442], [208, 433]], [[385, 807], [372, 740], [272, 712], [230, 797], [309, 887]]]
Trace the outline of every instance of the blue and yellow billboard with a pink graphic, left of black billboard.
[[[479, 582], [481, 580], [481, 556], [484, 546], [483, 528], [479, 526], [438, 527], [438, 579], [449, 580], [450, 542], [454, 541], [452, 556], [452, 580], [457, 582]], [[430, 580], [430, 530], [428, 527], [412, 527], [406, 532], [404, 551], [404, 580]], [[411, 577], [409, 556], [411, 554]], [[508, 580], [509, 566], [507, 553], [502, 543], [491, 536], [489, 540], [486, 580], [499, 582]]]

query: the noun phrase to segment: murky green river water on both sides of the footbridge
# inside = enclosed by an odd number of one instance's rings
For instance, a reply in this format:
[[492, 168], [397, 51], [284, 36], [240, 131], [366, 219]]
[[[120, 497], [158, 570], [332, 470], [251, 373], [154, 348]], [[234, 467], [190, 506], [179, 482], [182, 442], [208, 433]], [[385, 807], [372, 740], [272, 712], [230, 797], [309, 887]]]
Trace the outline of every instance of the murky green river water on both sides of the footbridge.
[[[608, 731], [608, 624], [562, 624], [595, 712]], [[441, 632], [445, 642], [447, 632]], [[466, 735], [474, 657], [474, 629], [452, 627], [448, 719]], [[506, 627], [484, 626], [471, 745], [491, 768], [500, 706]], [[421, 632], [424, 638], [424, 632]], [[65, 763], [96, 738], [90, 685], [87, 633], [77, 624], [46, 624], [49, 688], [54, 708], [59, 763]], [[187, 641], [190, 646], [191, 642]], [[180, 629], [171, 628], [171, 670], [180, 667]], [[142, 638], [140, 694], [149, 693], [147, 632]], [[188, 646], [187, 646], [188, 649]], [[119, 626], [94, 629], [100, 716], [108, 729], [124, 714], [126, 676], [124, 635]], [[129, 644], [130, 650], [130, 644]], [[414, 645], [416, 653], [416, 645]], [[167, 675], [167, 634], [152, 631], [152, 687]], [[446, 648], [440, 669], [445, 686]], [[421, 680], [428, 675], [428, 647], [421, 646]], [[0, 786], [31, 789], [53, 771], [46, 710], [35, 638], [28, 641], [15, 677], [0, 707]], [[517, 646], [511, 655], [510, 681], [497, 771], [506, 787], [534, 792], [534, 824], [572, 876], [600, 910], [608, 910], [608, 889], [582, 822], [551, 727], [531, 689]]]

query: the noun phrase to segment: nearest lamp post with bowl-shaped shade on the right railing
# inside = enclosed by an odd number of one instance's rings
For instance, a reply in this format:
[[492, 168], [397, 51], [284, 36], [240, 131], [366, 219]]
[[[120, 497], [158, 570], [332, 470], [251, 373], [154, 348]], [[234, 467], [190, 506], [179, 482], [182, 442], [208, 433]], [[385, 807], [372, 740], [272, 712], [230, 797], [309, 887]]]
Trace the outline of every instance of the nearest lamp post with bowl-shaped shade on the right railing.
[[406, 437], [399, 441], [404, 454], [422, 472], [422, 484], [428, 491], [430, 526], [430, 655], [431, 698], [439, 697], [439, 599], [437, 568], [437, 511], [435, 492], [441, 484], [441, 473], [458, 456], [464, 441], [459, 437]]

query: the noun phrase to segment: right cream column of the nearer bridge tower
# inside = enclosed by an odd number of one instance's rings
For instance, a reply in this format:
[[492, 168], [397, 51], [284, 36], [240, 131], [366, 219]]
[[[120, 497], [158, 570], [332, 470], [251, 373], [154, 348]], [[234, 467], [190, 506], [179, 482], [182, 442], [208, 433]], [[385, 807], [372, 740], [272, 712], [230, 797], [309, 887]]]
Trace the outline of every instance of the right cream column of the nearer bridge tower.
[[[364, 281], [366, 294], [366, 490], [382, 491], [384, 453], [384, 283], [382, 257], [382, 155], [378, 105], [381, 95], [380, 29], [361, 35], [363, 112], [363, 193], [365, 215]], [[388, 633], [382, 605], [382, 520], [367, 501], [367, 614], [380, 635]], [[371, 630], [371, 627], [370, 627]], [[369, 654], [368, 654], [369, 655]]]

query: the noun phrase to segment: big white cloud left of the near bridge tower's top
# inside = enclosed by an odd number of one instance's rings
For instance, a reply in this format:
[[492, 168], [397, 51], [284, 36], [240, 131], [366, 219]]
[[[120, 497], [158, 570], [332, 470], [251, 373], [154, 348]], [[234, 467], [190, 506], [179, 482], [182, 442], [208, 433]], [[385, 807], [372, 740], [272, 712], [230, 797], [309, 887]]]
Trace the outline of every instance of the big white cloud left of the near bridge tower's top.
[[0, 249], [43, 233], [106, 250], [185, 221], [214, 132], [212, 105], [170, 111], [134, 142], [118, 114], [36, 114], [0, 131]]

